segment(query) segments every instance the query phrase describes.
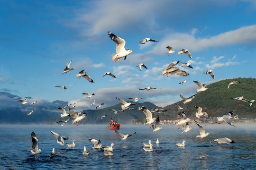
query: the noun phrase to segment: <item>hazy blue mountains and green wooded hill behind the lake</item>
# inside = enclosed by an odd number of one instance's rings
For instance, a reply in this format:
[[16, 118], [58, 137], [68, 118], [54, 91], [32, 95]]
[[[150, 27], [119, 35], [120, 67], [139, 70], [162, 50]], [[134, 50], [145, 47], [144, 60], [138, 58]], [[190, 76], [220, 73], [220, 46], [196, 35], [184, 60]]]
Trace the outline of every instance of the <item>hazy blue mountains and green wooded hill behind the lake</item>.
[[[241, 83], [236, 85], [231, 85], [228, 90], [228, 85], [232, 81], [240, 81]], [[181, 107], [188, 107], [184, 109], [187, 116], [195, 117], [196, 108], [194, 106], [199, 106], [206, 111], [210, 117], [222, 116], [229, 111], [234, 111], [235, 115], [239, 118], [256, 118], [256, 104], [249, 106], [246, 102], [236, 103], [231, 98], [241, 97], [248, 100], [256, 99], [256, 79], [255, 78], [235, 78], [226, 79], [219, 82], [212, 83], [207, 86], [208, 90], [197, 93], [196, 97], [189, 102], [184, 104], [183, 101], [176, 102]], [[191, 96], [184, 96], [191, 97]], [[64, 107], [68, 102], [64, 101], [54, 101], [48, 102], [43, 99], [32, 99], [31, 97], [26, 97], [28, 103], [22, 106], [21, 102], [17, 102], [21, 98], [17, 95], [10, 93], [0, 92], [0, 123], [55, 123], [55, 121], [62, 120], [60, 117], [61, 110], [57, 107]], [[36, 104], [30, 105], [31, 102], [37, 100]], [[97, 110], [82, 110], [87, 113], [85, 119], [82, 119], [79, 123], [84, 124], [94, 124], [102, 123], [108, 124], [110, 118], [117, 120], [118, 123], [131, 123], [132, 119], [145, 119], [146, 116], [141, 110], [137, 110], [136, 106], [145, 106], [147, 109], [151, 110], [157, 106], [151, 102], [136, 103], [133, 108], [134, 110], [125, 110], [124, 112], [118, 112], [114, 114], [114, 110], [121, 109], [121, 103], [116, 104], [111, 107]], [[26, 115], [31, 110], [35, 110], [33, 115]], [[69, 107], [66, 108], [68, 112]], [[165, 114], [158, 113], [155, 116], [160, 116], [161, 118], [176, 118], [180, 111], [175, 104], [168, 105], [164, 107], [167, 111]], [[101, 116], [107, 114], [105, 118], [101, 119]], [[67, 119], [64, 118], [64, 119]]]

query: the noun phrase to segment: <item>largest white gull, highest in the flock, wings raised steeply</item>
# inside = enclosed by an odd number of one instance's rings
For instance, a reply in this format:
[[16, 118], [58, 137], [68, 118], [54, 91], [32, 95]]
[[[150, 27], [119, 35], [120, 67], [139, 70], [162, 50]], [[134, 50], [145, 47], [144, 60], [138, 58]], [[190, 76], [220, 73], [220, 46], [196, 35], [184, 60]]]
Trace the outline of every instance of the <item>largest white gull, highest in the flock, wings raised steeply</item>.
[[115, 62], [119, 62], [120, 58], [128, 56], [130, 53], [134, 52], [131, 50], [126, 50], [124, 48], [125, 46], [125, 41], [124, 39], [116, 36], [115, 34], [108, 32], [109, 37], [111, 38], [111, 40], [113, 40], [116, 43], [116, 54], [112, 54], [112, 60]]

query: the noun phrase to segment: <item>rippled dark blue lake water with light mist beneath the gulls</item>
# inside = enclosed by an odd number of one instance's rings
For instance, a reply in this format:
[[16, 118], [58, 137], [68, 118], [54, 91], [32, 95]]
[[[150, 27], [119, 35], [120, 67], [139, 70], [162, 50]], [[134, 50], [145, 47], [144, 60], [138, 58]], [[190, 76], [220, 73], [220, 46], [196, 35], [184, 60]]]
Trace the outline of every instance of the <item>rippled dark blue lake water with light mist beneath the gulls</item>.
[[[119, 132], [135, 135], [127, 141], [113, 130], [105, 129], [107, 125], [0, 125], [0, 169], [89, 169], [89, 170], [255, 170], [256, 169], [256, 124], [227, 124], [207, 125], [201, 123], [205, 132], [210, 135], [200, 142], [199, 128], [193, 129], [188, 135], [181, 134], [182, 129], [175, 125], [160, 125], [164, 128], [152, 132], [148, 125], [121, 125]], [[58, 146], [54, 131], [60, 136], [66, 136], [66, 144], [76, 146], [67, 148]], [[34, 131], [39, 140], [42, 153], [32, 155], [27, 149], [31, 148], [31, 132]], [[214, 139], [228, 137], [236, 141], [234, 144], [215, 144]], [[103, 146], [114, 143], [114, 155], [104, 156], [100, 150], [91, 148], [93, 144], [88, 138], [100, 139]], [[159, 138], [160, 144], [155, 144]], [[152, 141], [153, 152], [145, 152], [140, 142]], [[182, 143], [185, 147], [178, 147], [174, 143]], [[211, 142], [211, 144], [210, 144]], [[83, 146], [90, 152], [82, 155]], [[55, 148], [56, 156], [49, 157]]]

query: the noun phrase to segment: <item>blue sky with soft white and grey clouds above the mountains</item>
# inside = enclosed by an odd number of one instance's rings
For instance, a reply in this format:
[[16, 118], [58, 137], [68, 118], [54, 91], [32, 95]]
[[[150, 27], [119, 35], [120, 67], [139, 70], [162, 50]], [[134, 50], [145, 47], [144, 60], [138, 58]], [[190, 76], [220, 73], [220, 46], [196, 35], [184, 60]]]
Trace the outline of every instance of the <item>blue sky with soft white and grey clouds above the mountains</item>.
[[[255, 18], [255, 0], [1, 0], [0, 91], [76, 102], [77, 111], [94, 109], [93, 99], [109, 107], [119, 103], [115, 97], [140, 96], [140, 102], [164, 107], [180, 101], [180, 94], [195, 94], [192, 80], [210, 84], [255, 78]], [[135, 51], [127, 60], [111, 60], [115, 43], [108, 31]], [[160, 42], [139, 44], [146, 37]], [[168, 56], [166, 46], [176, 52]], [[183, 47], [192, 59], [177, 54]], [[62, 75], [70, 60], [74, 70]], [[181, 68], [190, 75], [162, 76], [177, 60], [192, 63], [194, 69]], [[148, 69], [140, 71], [139, 63]], [[95, 83], [76, 77], [82, 69]], [[215, 80], [203, 74], [207, 69], [213, 70]], [[105, 72], [117, 78], [102, 77]], [[70, 84], [75, 85], [66, 91], [52, 86]], [[162, 89], [138, 90], [148, 86]], [[84, 92], [95, 95], [87, 99]]]

